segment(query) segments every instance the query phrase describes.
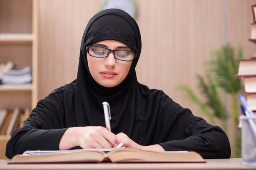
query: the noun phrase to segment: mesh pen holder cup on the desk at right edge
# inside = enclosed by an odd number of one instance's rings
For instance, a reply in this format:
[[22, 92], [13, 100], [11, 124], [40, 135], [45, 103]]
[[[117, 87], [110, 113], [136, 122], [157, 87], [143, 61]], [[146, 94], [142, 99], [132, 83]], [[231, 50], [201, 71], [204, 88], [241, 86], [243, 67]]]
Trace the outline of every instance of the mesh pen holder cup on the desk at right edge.
[[256, 167], [256, 116], [240, 116], [242, 164]]

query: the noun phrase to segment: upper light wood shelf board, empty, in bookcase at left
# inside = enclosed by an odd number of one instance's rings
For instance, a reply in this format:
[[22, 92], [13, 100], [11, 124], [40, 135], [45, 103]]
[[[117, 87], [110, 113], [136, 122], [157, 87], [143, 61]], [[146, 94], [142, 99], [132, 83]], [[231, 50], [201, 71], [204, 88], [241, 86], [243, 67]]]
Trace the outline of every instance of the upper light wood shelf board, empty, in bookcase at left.
[[30, 33], [0, 33], [0, 42], [32, 42]]

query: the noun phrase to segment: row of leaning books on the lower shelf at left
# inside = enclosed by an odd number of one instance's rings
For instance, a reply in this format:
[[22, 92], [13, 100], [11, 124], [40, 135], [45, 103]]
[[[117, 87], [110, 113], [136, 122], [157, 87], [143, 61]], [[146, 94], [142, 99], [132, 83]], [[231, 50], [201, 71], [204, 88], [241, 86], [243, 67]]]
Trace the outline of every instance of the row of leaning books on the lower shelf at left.
[[0, 135], [11, 135], [13, 130], [22, 126], [21, 122], [29, 117], [29, 109], [22, 110], [15, 108], [14, 110], [0, 110]]

